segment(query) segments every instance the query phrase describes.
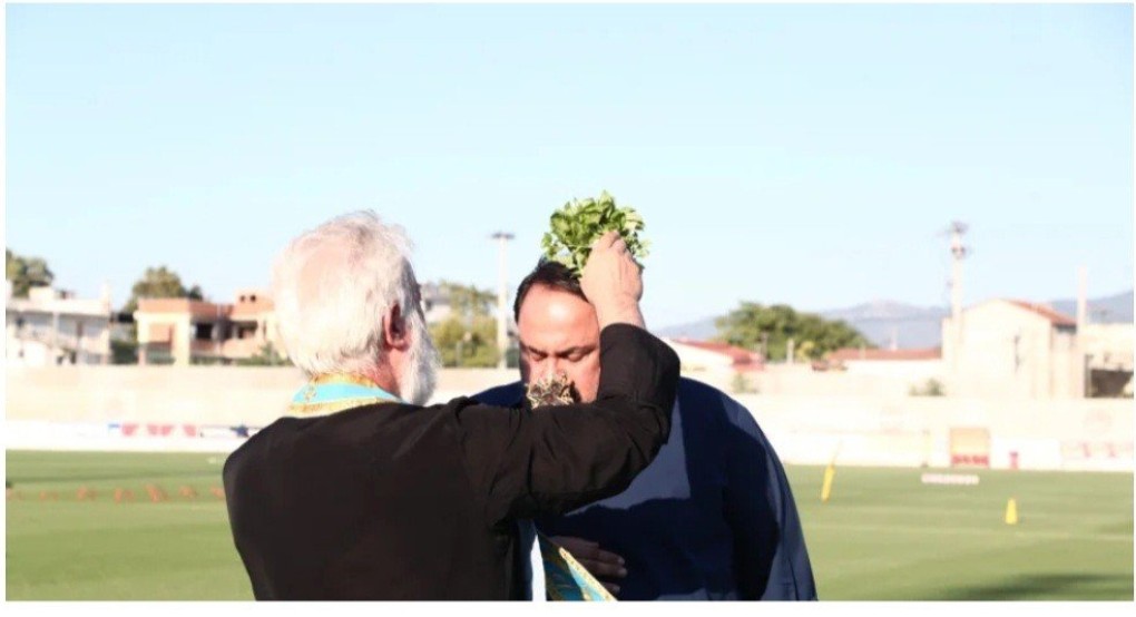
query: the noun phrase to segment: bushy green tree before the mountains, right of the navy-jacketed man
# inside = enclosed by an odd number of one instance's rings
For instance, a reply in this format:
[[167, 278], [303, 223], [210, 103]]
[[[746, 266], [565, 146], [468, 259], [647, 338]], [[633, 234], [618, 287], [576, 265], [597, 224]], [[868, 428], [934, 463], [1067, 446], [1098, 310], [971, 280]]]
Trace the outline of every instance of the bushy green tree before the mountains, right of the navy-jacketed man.
[[[828, 320], [811, 312], [797, 312], [787, 305], [742, 305], [715, 319], [718, 340], [745, 349], [766, 349], [767, 359], [784, 360], [793, 339], [804, 357], [820, 357], [847, 347], [872, 347], [855, 328], [843, 320]], [[794, 356], [801, 356], [794, 352]]]

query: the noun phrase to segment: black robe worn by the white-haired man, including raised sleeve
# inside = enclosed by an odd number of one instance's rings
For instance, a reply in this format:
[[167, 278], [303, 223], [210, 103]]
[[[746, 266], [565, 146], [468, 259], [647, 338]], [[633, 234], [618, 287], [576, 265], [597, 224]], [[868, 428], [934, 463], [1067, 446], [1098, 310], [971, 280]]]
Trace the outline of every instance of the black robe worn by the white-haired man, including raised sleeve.
[[675, 352], [626, 324], [600, 344], [594, 403], [371, 405], [258, 432], [224, 469], [256, 598], [524, 598], [516, 519], [620, 493], [670, 431]]

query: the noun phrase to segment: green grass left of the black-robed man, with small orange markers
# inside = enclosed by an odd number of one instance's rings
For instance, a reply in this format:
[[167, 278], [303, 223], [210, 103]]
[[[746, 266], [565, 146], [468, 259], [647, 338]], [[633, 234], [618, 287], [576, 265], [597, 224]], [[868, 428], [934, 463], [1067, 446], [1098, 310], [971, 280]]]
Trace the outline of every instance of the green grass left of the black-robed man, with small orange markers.
[[[7, 501], [8, 600], [243, 600], [249, 578], [228, 531], [222, 455], [7, 453], [23, 499]], [[169, 501], [152, 503], [145, 485]], [[95, 501], [78, 501], [81, 486]], [[181, 498], [181, 486], [198, 491]], [[116, 487], [137, 501], [115, 503]], [[55, 491], [59, 501], [40, 501]]]

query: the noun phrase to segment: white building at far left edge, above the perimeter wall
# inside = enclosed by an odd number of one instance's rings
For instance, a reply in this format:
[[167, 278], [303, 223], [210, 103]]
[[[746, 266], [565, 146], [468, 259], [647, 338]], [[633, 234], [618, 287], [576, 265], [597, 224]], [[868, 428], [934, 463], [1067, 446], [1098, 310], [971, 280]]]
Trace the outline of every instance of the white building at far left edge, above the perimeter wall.
[[6, 361], [9, 366], [110, 362], [109, 290], [83, 300], [55, 287], [32, 287], [27, 298], [5, 299]]

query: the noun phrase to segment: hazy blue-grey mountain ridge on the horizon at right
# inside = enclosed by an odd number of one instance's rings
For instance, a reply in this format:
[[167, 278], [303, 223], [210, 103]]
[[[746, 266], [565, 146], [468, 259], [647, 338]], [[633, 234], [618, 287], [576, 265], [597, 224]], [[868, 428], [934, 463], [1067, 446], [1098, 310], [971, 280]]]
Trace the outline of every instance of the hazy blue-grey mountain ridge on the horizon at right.
[[[1054, 309], [1077, 316], [1076, 300], [1054, 300], [1049, 302]], [[947, 315], [945, 308], [917, 307], [877, 300], [854, 307], [820, 311], [826, 319], [843, 319], [857, 328], [877, 347], [888, 348], [892, 337], [899, 349], [921, 349], [942, 344], [942, 319]], [[660, 336], [685, 336], [690, 339], [712, 339], [718, 334], [715, 318], [708, 317], [677, 326], [660, 328]], [[1133, 292], [1127, 291], [1103, 298], [1088, 300], [1088, 320], [1094, 324], [1133, 323]]]

